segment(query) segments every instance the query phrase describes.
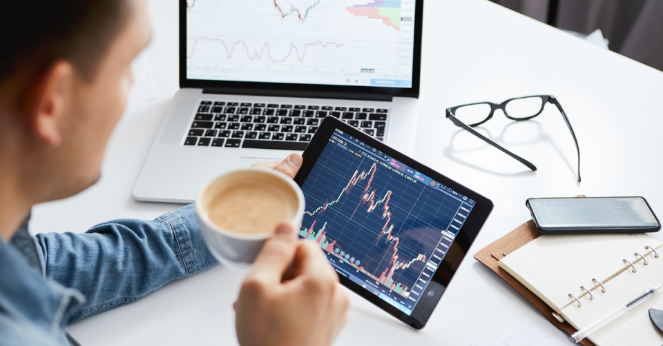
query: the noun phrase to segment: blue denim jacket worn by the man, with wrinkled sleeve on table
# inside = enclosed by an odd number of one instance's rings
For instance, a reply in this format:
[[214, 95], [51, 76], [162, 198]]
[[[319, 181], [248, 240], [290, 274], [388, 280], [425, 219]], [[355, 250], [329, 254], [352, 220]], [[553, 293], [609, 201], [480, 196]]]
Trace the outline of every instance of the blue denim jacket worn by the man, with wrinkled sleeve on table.
[[153, 221], [0, 240], [0, 346], [70, 345], [64, 327], [214, 265], [188, 205]]

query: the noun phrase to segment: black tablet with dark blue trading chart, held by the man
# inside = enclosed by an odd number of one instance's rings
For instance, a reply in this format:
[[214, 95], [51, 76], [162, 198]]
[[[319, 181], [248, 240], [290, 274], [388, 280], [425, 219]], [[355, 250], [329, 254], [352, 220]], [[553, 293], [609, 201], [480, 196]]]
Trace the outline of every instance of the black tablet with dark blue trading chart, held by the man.
[[345, 287], [421, 329], [492, 202], [332, 116], [302, 156], [300, 238]]

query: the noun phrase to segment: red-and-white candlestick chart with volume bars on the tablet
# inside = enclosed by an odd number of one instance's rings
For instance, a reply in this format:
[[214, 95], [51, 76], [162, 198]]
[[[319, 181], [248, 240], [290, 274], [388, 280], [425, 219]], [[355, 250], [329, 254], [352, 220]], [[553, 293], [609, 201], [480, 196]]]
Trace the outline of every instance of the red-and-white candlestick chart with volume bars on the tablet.
[[[361, 199], [357, 207], [355, 208], [352, 216], [350, 216], [350, 219], [354, 217], [357, 210], [362, 205], [364, 206], [367, 205], [365, 209], [366, 214], [373, 212], [374, 210], [376, 210], [378, 206], [381, 205], [382, 206], [381, 218], [385, 220], [385, 225], [382, 227], [381, 233], [378, 235], [376, 245], [380, 243], [380, 241], [383, 239], [383, 236], [385, 236], [384, 237], [385, 243], [393, 244], [392, 247], [393, 252], [388, 267], [382, 272], [380, 276], [376, 276], [375, 274], [367, 272], [363, 266], [360, 267], [355, 263], [349, 263], [349, 262], [348, 263], [356, 267], [358, 270], [361, 270], [361, 272], [363, 272], [364, 274], [367, 274], [370, 277], [374, 278], [376, 281], [379, 281], [384, 285], [386, 285], [387, 287], [390, 287], [390, 289], [393, 289], [395, 292], [398, 292], [398, 294], [401, 294], [403, 296], [408, 296], [409, 292], [407, 292], [407, 290], [410, 287], [407, 287], [407, 285], [403, 285], [402, 283], [395, 282], [393, 280], [394, 272], [398, 269], [407, 269], [408, 267], [410, 267], [410, 265], [412, 265], [412, 263], [416, 261], [425, 262], [426, 255], [418, 254], [416, 258], [412, 258], [412, 260], [407, 262], [398, 260], [399, 257], [398, 245], [401, 242], [401, 239], [398, 238], [398, 236], [392, 234], [392, 230], [394, 230], [394, 225], [390, 225], [392, 212], [390, 211], [389, 201], [392, 196], [392, 191], [391, 190], [387, 191], [387, 193], [382, 199], [376, 199], [376, 190], [375, 189], [371, 190], [371, 183], [373, 182], [376, 170], [377, 170], [376, 163], [373, 163], [373, 165], [369, 168], [369, 170], [364, 170], [361, 173], [359, 172], [359, 170], [356, 170], [354, 174], [352, 174], [352, 178], [349, 179], [349, 181], [347, 182], [343, 190], [341, 190], [340, 194], [338, 194], [338, 197], [336, 199], [334, 199], [331, 202], [329, 202], [329, 199], [327, 199], [327, 201], [325, 201], [325, 203], [323, 203], [323, 205], [318, 207], [316, 210], [313, 210], [312, 212], [307, 211], [304, 213], [309, 216], [316, 216], [322, 214], [325, 210], [327, 210], [327, 208], [330, 205], [338, 203], [338, 201], [340, 201], [343, 195], [349, 194], [349, 192], [352, 190], [352, 187], [354, 187], [354, 185], [357, 185], [361, 181], [367, 180], [366, 187], [364, 188], [363, 192], [361, 192]], [[314, 226], [316, 222], [317, 220], [314, 220], [314, 222], [311, 224], [311, 227], [309, 227], [308, 229], [304, 228], [303, 230], [300, 230], [300, 235], [309, 240], [315, 241], [323, 249], [329, 251], [338, 258], [341, 258], [343, 261], [346, 261], [345, 258], [343, 258], [343, 256], [340, 256], [339, 254], [336, 254], [334, 252], [334, 246], [336, 245], [336, 240], [332, 241], [332, 239], [327, 238], [327, 232], [325, 231], [327, 223], [325, 223], [325, 225], [323, 225], [323, 227], [320, 228], [320, 230], [318, 230], [317, 234], [314, 233]]]

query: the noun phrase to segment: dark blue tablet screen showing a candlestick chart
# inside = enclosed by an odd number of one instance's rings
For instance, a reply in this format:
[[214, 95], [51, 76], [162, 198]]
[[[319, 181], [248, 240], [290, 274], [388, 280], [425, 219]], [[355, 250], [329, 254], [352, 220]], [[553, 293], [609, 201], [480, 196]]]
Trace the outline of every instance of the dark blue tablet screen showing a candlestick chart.
[[300, 237], [336, 272], [407, 315], [475, 202], [334, 130], [302, 184]]

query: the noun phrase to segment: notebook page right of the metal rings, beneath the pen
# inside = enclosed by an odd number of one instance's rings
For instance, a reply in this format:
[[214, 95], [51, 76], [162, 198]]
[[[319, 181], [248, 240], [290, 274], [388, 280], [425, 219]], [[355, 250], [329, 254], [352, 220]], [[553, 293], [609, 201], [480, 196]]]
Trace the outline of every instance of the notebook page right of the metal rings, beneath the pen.
[[[663, 246], [657, 249], [660, 254], [659, 258], [655, 258], [654, 254], [645, 256], [647, 265], [644, 265], [643, 261], [633, 263], [637, 272], [633, 273], [629, 265], [627, 270], [605, 283], [605, 293], [602, 293], [600, 289], [595, 289], [593, 291], [593, 301], [584, 297], [581, 299], [582, 307], [579, 308], [577, 305], [565, 307], [561, 310], [562, 316], [574, 327], [583, 328], [630, 301], [645, 289], [662, 284], [662, 250]], [[644, 253], [641, 254], [644, 255]], [[631, 261], [630, 258], [627, 259]], [[590, 340], [599, 346], [663, 345], [663, 334], [654, 327], [649, 319], [648, 309], [651, 307], [663, 309], [663, 289], [657, 291], [644, 303], [591, 334], [589, 336]]]

